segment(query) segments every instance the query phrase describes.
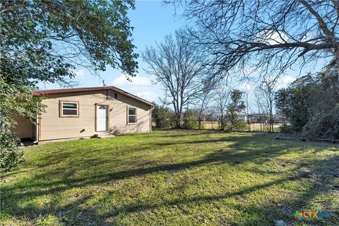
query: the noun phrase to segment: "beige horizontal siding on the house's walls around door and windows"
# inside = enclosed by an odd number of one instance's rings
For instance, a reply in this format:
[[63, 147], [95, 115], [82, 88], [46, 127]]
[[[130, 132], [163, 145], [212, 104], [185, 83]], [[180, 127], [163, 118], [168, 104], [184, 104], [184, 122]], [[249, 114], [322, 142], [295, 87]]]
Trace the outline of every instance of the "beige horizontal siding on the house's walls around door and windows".
[[[108, 105], [109, 133], [136, 133], [150, 131], [150, 106], [118, 93], [117, 100], [107, 100], [106, 90], [83, 93], [49, 95], [41, 114], [40, 141], [93, 136], [95, 133], [95, 107]], [[79, 102], [79, 117], [59, 117], [59, 101]], [[127, 106], [136, 107], [137, 123], [127, 124]]]

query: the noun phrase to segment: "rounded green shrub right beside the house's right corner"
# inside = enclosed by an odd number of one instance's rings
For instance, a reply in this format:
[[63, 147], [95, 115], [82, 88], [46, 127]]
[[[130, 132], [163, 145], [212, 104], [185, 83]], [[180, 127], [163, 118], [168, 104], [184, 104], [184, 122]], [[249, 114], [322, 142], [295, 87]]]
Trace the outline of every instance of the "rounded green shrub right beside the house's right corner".
[[152, 111], [152, 117], [157, 128], [171, 128], [174, 126], [174, 112], [168, 107], [155, 104]]

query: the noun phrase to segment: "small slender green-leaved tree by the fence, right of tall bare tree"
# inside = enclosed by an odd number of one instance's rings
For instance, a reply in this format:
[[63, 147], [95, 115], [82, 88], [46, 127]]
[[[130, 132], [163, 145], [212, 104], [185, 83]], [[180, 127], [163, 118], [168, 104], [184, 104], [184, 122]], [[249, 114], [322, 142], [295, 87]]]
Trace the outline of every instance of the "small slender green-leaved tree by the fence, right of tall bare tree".
[[244, 101], [242, 100], [242, 91], [232, 90], [230, 92], [230, 103], [227, 105], [227, 121], [230, 122], [227, 131], [235, 131], [239, 128], [238, 113], [245, 109]]

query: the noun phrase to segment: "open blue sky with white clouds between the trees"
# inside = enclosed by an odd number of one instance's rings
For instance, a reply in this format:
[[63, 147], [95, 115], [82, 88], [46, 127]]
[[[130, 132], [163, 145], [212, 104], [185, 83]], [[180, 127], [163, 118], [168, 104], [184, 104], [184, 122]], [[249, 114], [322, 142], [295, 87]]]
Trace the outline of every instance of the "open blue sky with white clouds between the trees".
[[[146, 46], [154, 46], [156, 42], [162, 42], [165, 35], [169, 35], [186, 25], [185, 19], [181, 18], [179, 13], [175, 14], [174, 7], [164, 5], [162, 1], [136, 1], [136, 9], [129, 11], [129, 18], [134, 27], [132, 32], [133, 44], [136, 46], [136, 53], [139, 55], [145, 50]], [[319, 71], [324, 64], [325, 61], [320, 60], [314, 66], [304, 69], [302, 74]], [[145, 100], [159, 102], [159, 97], [164, 95], [162, 88], [160, 85], [152, 85], [153, 78], [145, 73], [144, 69], [147, 68], [147, 64], [143, 62], [141, 57], [138, 58], [138, 66], [137, 76], [131, 78], [131, 82], [127, 81], [126, 76], [120, 70], [110, 67], [106, 71], [100, 71], [100, 77], [86, 69], [79, 68], [76, 70], [77, 87], [102, 86], [102, 80], [105, 80], [105, 85], [114, 85]], [[280, 78], [278, 88], [286, 87], [297, 76], [299, 76], [299, 70], [291, 69]], [[249, 84], [238, 83], [235, 86], [240, 90], [249, 90], [253, 87]], [[57, 84], [40, 83], [39, 88], [44, 90], [60, 87]], [[250, 96], [253, 96], [253, 94]], [[249, 99], [252, 102], [254, 100], [252, 97]], [[254, 103], [251, 103], [251, 106], [254, 106]], [[250, 109], [250, 112], [255, 112], [255, 109]]]

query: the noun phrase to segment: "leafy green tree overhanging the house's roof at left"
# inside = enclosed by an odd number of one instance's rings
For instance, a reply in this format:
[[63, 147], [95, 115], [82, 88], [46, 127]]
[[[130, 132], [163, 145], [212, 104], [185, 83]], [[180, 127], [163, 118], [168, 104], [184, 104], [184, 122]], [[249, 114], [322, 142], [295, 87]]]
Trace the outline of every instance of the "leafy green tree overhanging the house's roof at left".
[[127, 18], [133, 7], [127, 0], [1, 1], [2, 133], [9, 133], [15, 112], [33, 119], [42, 111], [31, 96], [38, 82], [67, 85], [78, 66], [105, 71], [109, 65], [133, 76], [138, 55]]

